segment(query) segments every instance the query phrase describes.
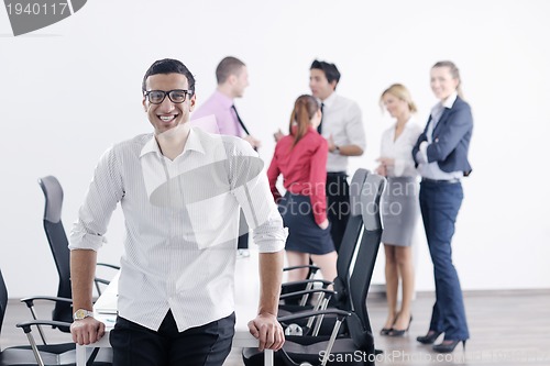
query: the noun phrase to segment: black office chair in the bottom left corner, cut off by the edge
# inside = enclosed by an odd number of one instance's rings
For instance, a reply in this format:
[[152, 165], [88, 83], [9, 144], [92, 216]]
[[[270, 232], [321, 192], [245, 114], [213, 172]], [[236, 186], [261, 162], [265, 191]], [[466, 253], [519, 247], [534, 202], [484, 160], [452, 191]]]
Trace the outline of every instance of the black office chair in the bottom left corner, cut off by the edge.
[[[0, 270], [0, 335], [2, 323], [8, 304], [8, 289]], [[59, 344], [43, 344], [37, 345], [31, 333], [33, 325], [56, 325], [67, 326], [68, 324], [56, 321], [35, 320], [25, 323], [19, 323], [16, 326], [22, 328], [26, 334], [30, 345], [12, 346], [6, 350], [0, 350], [0, 366], [75, 366], [76, 351], [75, 343]], [[111, 348], [96, 348], [87, 365], [109, 366], [112, 365]]]

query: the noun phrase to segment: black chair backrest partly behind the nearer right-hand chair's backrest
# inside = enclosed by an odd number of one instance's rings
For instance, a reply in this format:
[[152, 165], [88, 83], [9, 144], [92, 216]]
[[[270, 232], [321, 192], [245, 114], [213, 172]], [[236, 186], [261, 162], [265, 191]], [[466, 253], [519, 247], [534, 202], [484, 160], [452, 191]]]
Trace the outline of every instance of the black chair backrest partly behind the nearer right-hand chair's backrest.
[[[342, 243], [338, 252], [337, 274], [334, 279], [334, 290], [337, 291], [336, 301], [339, 309], [346, 309], [349, 306], [348, 299], [348, 278], [350, 276], [349, 269], [353, 259], [359, 243], [361, 231], [363, 230], [363, 214], [361, 211], [361, 193], [363, 192], [363, 185], [369, 170], [358, 169], [350, 182], [350, 218], [345, 225], [345, 231], [342, 237]], [[344, 208], [345, 209], [345, 208]]]

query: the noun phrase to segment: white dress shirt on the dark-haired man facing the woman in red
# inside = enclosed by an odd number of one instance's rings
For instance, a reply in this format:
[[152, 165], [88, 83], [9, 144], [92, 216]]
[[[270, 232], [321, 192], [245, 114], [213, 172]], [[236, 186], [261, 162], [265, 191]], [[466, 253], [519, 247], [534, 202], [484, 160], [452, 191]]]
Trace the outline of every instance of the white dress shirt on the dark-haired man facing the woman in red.
[[[338, 146], [358, 145], [364, 151], [365, 131], [358, 103], [336, 92], [322, 103], [322, 136], [328, 140], [332, 135]], [[327, 171], [345, 171], [346, 169], [348, 156], [329, 153]]]

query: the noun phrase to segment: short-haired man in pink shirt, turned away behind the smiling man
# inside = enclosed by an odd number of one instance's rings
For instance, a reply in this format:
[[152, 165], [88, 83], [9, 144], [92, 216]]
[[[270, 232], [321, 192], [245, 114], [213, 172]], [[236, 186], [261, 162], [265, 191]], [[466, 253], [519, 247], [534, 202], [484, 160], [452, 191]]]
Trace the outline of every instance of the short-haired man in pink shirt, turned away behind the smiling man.
[[[242, 98], [244, 89], [249, 86], [249, 70], [246, 65], [237, 57], [224, 57], [216, 68], [216, 80], [218, 87], [215, 92], [193, 113], [191, 120], [207, 115], [216, 118], [218, 133], [222, 135], [238, 136], [248, 141], [254, 149], [261, 142], [249, 134], [241, 117], [234, 106], [235, 98]], [[200, 126], [200, 123], [198, 124]], [[238, 255], [250, 256], [249, 253], [249, 225], [241, 211], [239, 228]]]

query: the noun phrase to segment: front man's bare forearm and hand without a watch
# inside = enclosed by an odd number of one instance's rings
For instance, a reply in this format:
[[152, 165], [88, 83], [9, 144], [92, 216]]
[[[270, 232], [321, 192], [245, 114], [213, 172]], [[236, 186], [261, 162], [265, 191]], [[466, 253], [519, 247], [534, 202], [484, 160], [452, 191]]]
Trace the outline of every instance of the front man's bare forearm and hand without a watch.
[[279, 350], [285, 343], [283, 328], [277, 321], [278, 297], [283, 277], [283, 251], [260, 253], [260, 306], [257, 315], [249, 322], [258, 350]]

